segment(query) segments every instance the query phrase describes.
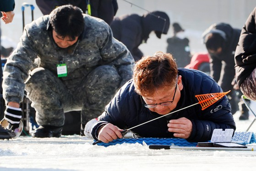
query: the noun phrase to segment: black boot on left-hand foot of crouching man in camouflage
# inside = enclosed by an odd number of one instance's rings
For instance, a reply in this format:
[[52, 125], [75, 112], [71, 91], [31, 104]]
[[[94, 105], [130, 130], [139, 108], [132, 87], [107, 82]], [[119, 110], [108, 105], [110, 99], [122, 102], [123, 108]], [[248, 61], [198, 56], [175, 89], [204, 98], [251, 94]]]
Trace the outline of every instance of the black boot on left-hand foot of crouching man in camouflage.
[[62, 126], [43, 125], [39, 126], [32, 136], [37, 138], [60, 137], [61, 132]]

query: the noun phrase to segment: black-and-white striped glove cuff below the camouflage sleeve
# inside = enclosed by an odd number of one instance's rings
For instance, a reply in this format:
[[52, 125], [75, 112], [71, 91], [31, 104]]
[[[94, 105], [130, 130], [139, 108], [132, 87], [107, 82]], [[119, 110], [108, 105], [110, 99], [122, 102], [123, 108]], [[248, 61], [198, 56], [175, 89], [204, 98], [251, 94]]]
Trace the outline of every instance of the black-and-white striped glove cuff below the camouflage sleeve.
[[11, 129], [15, 130], [19, 127], [22, 119], [22, 109], [6, 106], [5, 119], [11, 124]]

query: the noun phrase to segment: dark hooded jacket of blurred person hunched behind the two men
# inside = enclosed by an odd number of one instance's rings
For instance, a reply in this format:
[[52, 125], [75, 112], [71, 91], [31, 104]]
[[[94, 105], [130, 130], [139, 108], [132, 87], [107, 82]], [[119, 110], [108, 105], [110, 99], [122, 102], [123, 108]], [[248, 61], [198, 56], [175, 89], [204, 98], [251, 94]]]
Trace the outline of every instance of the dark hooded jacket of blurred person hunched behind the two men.
[[114, 38], [124, 43], [134, 60], [137, 61], [143, 56], [138, 48], [142, 41], [147, 42], [151, 31], [155, 31], [158, 38], [161, 38], [161, 34], [167, 34], [169, 25], [170, 21], [166, 13], [153, 11], [143, 16], [131, 14], [114, 17], [110, 27]]

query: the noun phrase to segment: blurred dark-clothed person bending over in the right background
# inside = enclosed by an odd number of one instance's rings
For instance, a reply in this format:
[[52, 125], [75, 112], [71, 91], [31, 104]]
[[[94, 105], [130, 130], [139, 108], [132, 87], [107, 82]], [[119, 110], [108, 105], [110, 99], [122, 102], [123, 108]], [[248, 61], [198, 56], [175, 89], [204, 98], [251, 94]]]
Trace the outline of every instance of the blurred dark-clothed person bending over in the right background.
[[236, 84], [234, 82], [234, 52], [240, 33], [240, 29], [233, 28], [227, 23], [218, 23], [207, 28], [202, 37], [210, 54], [211, 77], [218, 82], [224, 92], [231, 90], [231, 95], [228, 96], [232, 114], [240, 110], [241, 116], [239, 119], [245, 120], [249, 119], [249, 110], [241, 100], [241, 91], [234, 89]]

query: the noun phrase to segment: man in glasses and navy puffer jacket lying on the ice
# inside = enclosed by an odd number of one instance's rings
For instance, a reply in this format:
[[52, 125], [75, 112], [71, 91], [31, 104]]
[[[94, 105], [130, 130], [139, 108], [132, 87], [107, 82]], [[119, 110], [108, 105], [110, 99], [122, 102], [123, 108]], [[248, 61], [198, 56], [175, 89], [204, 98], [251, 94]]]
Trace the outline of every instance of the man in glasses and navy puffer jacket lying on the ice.
[[[93, 125], [94, 140], [108, 143], [120, 131], [198, 103], [195, 95], [223, 90], [207, 74], [177, 68], [169, 53], [157, 52], [136, 62], [133, 79], [120, 88]], [[236, 129], [227, 96], [205, 110], [200, 105], [180, 110], [131, 129], [134, 137], [211, 140], [214, 129]]]

